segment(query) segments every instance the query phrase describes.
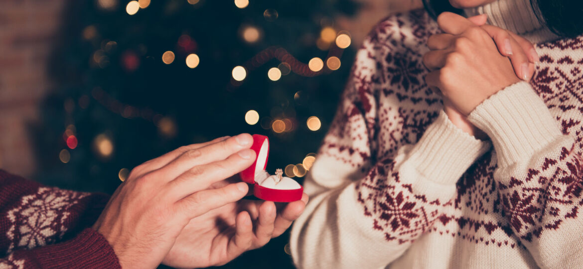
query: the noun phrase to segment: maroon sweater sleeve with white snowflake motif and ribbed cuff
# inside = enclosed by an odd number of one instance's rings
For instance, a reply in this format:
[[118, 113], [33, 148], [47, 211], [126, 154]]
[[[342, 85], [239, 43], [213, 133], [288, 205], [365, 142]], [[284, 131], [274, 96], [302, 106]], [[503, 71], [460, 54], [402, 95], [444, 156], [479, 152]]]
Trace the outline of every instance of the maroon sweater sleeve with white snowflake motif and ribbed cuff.
[[0, 170], [0, 268], [120, 268], [107, 240], [89, 228], [108, 199]]

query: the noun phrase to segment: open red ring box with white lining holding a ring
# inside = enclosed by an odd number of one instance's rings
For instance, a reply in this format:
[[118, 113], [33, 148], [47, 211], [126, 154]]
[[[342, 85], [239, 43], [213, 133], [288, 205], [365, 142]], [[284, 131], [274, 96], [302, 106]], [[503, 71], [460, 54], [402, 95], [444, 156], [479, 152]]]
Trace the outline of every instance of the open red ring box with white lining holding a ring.
[[269, 139], [266, 136], [254, 134], [251, 149], [257, 153], [257, 158], [239, 175], [244, 182], [253, 185], [253, 195], [262, 200], [284, 203], [301, 200], [304, 188], [300, 183], [285, 176], [279, 176], [281, 179], [278, 182], [278, 176], [269, 175], [265, 171], [269, 157]]

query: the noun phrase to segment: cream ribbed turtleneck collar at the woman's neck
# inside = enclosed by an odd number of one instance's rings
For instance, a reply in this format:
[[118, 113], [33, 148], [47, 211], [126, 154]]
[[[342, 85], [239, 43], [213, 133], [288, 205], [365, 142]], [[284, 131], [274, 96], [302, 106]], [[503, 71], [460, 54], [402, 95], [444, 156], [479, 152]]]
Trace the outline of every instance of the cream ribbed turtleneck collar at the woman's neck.
[[536, 6], [530, 0], [497, 0], [476, 8], [464, 9], [466, 16], [488, 15], [488, 24], [519, 34], [532, 43], [545, 43], [559, 38], [540, 23]]

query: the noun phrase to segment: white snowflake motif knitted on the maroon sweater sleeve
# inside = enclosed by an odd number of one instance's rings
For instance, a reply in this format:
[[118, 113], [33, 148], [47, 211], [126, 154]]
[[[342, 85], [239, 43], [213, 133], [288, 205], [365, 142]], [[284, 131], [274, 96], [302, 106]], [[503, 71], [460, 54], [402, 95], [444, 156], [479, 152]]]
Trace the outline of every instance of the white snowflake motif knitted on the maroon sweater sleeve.
[[66, 232], [64, 222], [69, 216], [66, 210], [87, 195], [41, 187], [36, 194], [24, 196], [20, 206], [8, 212], [12, 225], [6, 233], [11, 241], [7, 253], [20, 247], [33, 249], [62, 238]]

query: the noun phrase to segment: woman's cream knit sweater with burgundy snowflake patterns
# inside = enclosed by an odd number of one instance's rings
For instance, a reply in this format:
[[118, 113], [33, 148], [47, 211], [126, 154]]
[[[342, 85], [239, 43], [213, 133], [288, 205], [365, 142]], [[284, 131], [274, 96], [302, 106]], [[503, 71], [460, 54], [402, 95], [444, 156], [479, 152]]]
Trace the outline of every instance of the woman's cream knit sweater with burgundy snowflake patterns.
[[305, 180], [299, 268], [583, 268], [583, 37], [557, 39], [528, 0], [466, 12], [538, 43], [533, 79], [476, 107], [476, 140], [424, 83], [437, 23], [380, 22]]

